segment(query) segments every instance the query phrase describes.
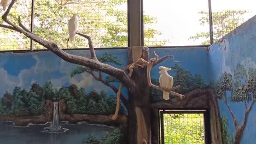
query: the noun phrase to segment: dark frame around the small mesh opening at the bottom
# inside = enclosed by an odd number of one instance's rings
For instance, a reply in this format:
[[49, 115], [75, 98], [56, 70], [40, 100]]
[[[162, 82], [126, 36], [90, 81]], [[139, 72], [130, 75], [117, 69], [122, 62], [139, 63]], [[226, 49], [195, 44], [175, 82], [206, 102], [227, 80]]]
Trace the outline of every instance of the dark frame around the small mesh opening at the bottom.
[[207, 109], [163, 109], [159, 110], [159, 144], [165, 144], [165, 135], [164, 135], [164, 114], [165, 113], [202, 113], [203, 114], [203, 123], [205, 130], [205, 143], [211, 143], [211, 127], [210, 127], [210, 114]]

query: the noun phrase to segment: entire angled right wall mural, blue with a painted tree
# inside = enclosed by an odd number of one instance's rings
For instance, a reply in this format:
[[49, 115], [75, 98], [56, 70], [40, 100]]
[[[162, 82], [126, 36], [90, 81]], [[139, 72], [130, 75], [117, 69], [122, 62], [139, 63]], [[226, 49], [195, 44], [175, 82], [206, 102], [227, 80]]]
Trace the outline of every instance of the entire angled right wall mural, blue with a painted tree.
[[256, 16], [210, 47], [223, 143], [256, 141]]

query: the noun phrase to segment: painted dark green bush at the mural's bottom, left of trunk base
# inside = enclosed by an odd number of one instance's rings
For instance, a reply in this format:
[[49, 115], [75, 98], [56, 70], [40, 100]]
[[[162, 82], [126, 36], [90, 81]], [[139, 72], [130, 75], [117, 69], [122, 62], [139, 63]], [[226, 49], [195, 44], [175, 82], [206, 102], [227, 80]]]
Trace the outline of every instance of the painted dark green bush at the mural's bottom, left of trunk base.
[[119, 129], [114, 129], [107, 132], [107, 136], [103, 140], [97, 140], [94, 136], [89, 136], [87, 139], [83, 140], [84, 144], [119, 144], [121, 143], [121, 131]]

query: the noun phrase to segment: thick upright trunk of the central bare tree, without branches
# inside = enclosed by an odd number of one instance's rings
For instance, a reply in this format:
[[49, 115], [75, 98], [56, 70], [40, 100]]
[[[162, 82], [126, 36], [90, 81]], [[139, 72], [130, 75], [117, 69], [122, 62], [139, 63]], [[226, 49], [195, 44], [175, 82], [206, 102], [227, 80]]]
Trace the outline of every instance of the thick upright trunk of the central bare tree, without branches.
[[[131, 54], [132, 50], [130, 48], [129, 63], [132, 63]], [[148, 48], [142, 47], [141, 57], [148, 61]], [[151, 143], [150, 97], [147, 82], [147, 68], [135, 69], [132, 73], [132, 79], [135, 82], [135, 87], [129, 89], [129, 113], [127, 119], [128, 143]]]

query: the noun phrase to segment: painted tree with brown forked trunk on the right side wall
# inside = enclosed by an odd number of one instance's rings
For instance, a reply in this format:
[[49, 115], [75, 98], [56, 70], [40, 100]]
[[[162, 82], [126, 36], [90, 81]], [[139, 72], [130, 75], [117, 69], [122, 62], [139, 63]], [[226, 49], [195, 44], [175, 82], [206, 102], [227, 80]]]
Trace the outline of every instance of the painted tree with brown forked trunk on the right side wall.
[[[245, 80], [245, 82], [242, 82], [243, 80]], [[231, 93], [230, 97], [229, 92]], [[249, 112], [252, 110], [256, 101], [256, 71], [248, 70], [245, 72], [245, 68], [238, 64], [234, 77], [226, 72], [222, 75], [216, 87], [216, 94], [218, 99], [224, 101], [232, 116], [232, 121], [236, 128], [234, 144], [238, 144], [242, 139]], [[245, 116], [241, 124], [238, 124], [234, 112], [229, 106], [228, 97], [231, 102], [245, 104]]]

